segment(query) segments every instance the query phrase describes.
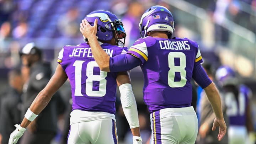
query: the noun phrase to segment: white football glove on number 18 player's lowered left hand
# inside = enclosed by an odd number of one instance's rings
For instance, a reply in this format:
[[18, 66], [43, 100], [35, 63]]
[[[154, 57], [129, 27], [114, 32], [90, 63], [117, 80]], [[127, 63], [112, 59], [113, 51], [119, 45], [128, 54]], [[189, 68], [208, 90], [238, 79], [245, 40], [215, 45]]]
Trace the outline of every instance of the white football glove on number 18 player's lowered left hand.
[[15, 124], [15, 127], [16, 129], [11, 133], [8, 144], [16, 144], [26, 130], [26, 128], [22, 128], [19, 124]]

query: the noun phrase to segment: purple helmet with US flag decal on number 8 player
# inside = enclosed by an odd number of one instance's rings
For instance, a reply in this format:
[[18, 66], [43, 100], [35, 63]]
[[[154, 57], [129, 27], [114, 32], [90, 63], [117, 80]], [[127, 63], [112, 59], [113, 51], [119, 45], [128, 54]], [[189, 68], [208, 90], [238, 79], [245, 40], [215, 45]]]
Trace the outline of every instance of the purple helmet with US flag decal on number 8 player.
[[151, 6], [144, 12], [139, 23], [140, 36], [148, 36], [150, 31], [166, 31], [171, 37], [174, 31], [174, 18], [171, 12], [164, 6]]

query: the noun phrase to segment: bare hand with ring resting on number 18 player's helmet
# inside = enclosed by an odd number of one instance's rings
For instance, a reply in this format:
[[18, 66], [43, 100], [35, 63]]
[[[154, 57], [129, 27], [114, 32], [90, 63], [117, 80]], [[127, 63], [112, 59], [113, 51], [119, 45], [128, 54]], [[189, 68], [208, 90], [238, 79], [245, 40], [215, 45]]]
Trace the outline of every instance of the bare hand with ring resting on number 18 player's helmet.
[[82, 22], [80, 23], [80, 32], [86, 38], [95, 37], [97, 33], [97, 23], [97, 18], [94, 21], [94, 26], [91, 26], [86, 19], [82, 20]]

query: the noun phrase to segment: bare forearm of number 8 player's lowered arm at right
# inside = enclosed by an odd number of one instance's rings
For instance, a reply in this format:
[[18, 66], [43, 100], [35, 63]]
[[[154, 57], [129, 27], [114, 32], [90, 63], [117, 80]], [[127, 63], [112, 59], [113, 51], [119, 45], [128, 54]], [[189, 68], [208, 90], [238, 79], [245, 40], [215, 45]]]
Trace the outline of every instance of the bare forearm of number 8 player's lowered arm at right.
[[206, 92], [207, 98], [210, 101], [213, 111], [217, 119], [223, 119], [222, 105], [220, 100], [219, 92], [212, 82], [209, 86], [207, 86], [204, 91]]

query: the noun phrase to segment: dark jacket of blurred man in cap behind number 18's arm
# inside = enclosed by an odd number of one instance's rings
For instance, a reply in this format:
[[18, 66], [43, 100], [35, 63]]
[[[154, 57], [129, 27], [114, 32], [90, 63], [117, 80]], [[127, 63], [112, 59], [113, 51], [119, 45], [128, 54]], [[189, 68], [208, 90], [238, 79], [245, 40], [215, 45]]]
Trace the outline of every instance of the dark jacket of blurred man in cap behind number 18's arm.
[[[51, 74], [49, 63], [37, 62], [31, 66], [27, 89], [23, 91], [22, 95], [23, 114], [26, 113], [37, 94], [47, 85]], [[61, 96], [58, 92], [55, 93], [46, 108], [37, 117], [36, 130], [57, 132], [58, 115], [64, 111], [64, 108]]]

